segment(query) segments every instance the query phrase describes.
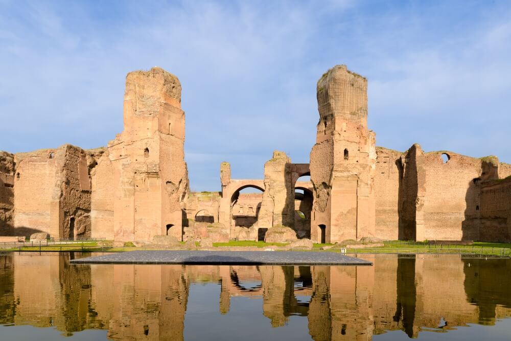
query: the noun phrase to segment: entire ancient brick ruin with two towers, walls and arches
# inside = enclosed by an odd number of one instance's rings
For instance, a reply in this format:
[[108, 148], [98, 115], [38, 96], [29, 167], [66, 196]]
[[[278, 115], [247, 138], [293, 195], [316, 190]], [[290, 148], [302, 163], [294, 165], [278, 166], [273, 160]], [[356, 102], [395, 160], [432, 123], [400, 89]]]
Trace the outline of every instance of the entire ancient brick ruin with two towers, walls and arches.
[[[275, 151], [261, 180], [233, 179], [224, 162], [220, 192], [191, 192], [179, 80], [157, 67], [131, 72], [124, 131], [107, 147], [0, 152], [0, 235], [511, 240], [511, 165], [417, 144], [405, 152], [376, 147], [367, 80], [345, 65], [319, 79], [317, 100], [310, 164]], [[240, 193], [245, 188], [262, 193]]]

